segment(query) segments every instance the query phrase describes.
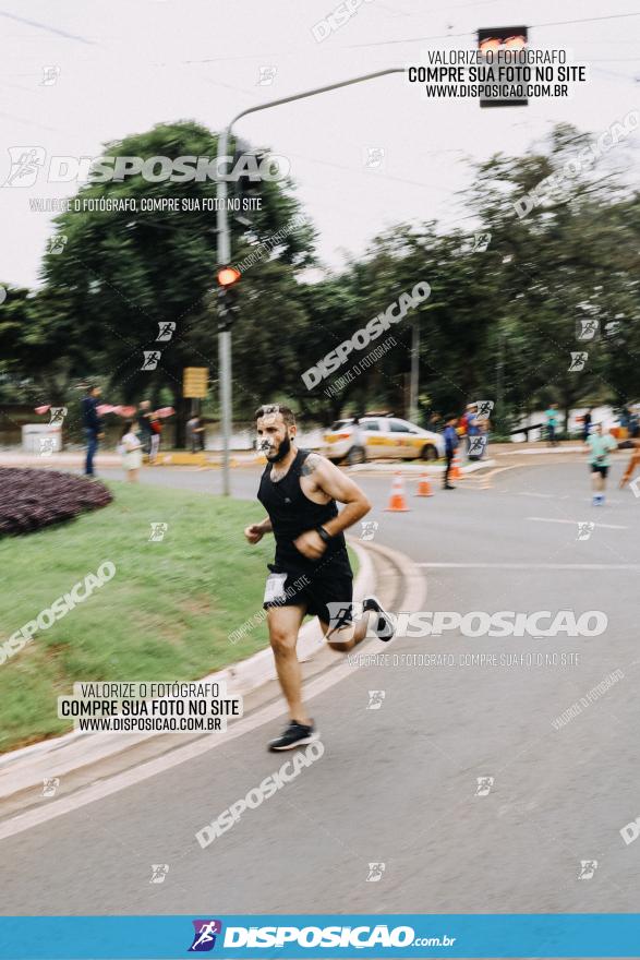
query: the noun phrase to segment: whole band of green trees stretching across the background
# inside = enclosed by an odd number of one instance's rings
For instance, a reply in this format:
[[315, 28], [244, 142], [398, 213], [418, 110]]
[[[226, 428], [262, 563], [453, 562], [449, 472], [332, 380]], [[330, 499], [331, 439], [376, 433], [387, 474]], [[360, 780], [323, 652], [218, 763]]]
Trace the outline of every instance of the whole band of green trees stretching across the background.
[[[495, 155], [473, 169], [466, 191], [470, 231], [400, 224], [316, 283], [304, 281], [303, 271], [316, 264], [315, 232], [294, 184], [263, 181], [261, 209], [249, 220], [230, 214], [232, 262], [252, 254], [255, 261], [245, 261], [232, 329], [234, 417], [249, 419], [259, 403], [285, 398], [324, 422], [349, 410], [406, 410], [413, 325], [423, 417], [493, 398], [506, 431], [552, 400], [569, 410], [638, 399], [638, 194], [607, 156], [594, 155], [567, 173], [567, 163], [570, 168], [590, 143], [588, 134], [561, 124], [523, 156]], [[105, 147], [109, 156], [170, 158], [215, 157], [216, 151], [216, 135], [186, 121]], [[624, 153], [620, 145], [618, 157]], [[215, 196], [213, 180], [148, 182], [141, 175], [108, 182], [89, 177], [77, 193], [80, 201], [138, 204]], [[37, 290], [12, 287], [9, 278], [4, 284], [0, 399], [63, 403], [72, 386], [97, 377], [114, 403], [144, 395], [153, 401], [170, 396], [178, 405], [182, 369], [192, 365], [208, 367], [215, 387], [214, 212], [71, 209], [55, 229], [65, 238], [63, 251], [45, 255]], [[418, 281], [431, 286], [428, 299], [306, 389], [301, 376], [307, 368]], [[580, 321], [595, 322], [592, 339], [580, 338]], [[158, 344], [165, 322], [176, 328], [170, 343]], [[395, 338], [393, 349], [340, 389], [327, 389], [385, 336]], [[160, 348], [156, 370], [142, 370], [143, 351]], [[587, 353], [580, 369], [576, 352]], [[215, 389], [209, 405], [215, 416]]]

